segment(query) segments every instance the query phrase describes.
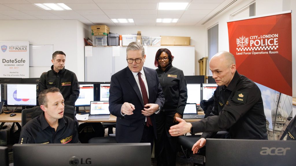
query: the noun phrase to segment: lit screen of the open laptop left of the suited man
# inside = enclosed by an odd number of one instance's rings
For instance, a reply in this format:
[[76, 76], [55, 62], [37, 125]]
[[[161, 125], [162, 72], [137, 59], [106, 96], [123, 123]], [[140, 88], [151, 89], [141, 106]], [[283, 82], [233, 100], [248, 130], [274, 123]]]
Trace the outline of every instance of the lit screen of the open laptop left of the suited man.
[[110, 115], [108, 101], [91, 101], [90, 115]]

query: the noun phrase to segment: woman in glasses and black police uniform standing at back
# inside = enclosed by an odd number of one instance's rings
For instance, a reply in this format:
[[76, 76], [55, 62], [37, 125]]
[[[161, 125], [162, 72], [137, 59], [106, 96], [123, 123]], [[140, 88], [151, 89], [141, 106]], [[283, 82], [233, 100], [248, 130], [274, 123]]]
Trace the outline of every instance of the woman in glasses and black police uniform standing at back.
[[187, 87], [183, 71], [172, 66], [174, 56], [170, 50], [160, 48], [155, 55], [155, 66], [165, 103], [156, 115], [157, 140], [155, 156], [157, 166], [176, 165], [178, 137], [170, 136], [170, 126], [177, 124], [176, 117], [182, 118], [187, 101]]

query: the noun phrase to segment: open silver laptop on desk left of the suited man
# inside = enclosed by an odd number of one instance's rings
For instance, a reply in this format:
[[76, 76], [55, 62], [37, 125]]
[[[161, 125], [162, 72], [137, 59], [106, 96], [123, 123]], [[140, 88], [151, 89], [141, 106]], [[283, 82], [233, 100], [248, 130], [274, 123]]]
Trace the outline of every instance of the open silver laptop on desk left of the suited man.
[[109, 119], [109, 101], [91, 101], [89, 119]]

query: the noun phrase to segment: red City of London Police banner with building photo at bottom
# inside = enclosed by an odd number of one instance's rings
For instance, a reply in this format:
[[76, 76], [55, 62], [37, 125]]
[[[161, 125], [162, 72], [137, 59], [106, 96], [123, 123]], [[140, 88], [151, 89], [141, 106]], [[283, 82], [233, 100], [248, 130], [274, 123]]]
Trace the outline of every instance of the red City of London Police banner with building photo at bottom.
[[268, 139], [278, 140], [293, 118], [291, 11], [227, 23], [239, 74], [261, 90]]

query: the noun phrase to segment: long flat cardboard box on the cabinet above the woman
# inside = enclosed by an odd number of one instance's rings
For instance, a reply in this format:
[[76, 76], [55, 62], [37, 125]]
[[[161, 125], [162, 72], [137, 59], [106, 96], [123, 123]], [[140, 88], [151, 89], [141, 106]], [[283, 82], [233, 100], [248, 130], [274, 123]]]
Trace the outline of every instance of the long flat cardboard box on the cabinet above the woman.
[[160, 36], [160, 45], [190, 45], [190, 37]]

